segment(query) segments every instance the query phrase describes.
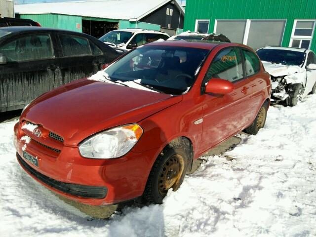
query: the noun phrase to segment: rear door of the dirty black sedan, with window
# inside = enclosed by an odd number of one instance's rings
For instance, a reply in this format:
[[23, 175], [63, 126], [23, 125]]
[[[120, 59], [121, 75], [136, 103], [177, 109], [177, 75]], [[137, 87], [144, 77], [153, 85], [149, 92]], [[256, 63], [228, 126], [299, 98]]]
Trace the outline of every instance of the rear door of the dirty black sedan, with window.
[[62, 83], [91, 76], [102, 62], [94, 60], [89, 40], [72, 34], [58, 33]]

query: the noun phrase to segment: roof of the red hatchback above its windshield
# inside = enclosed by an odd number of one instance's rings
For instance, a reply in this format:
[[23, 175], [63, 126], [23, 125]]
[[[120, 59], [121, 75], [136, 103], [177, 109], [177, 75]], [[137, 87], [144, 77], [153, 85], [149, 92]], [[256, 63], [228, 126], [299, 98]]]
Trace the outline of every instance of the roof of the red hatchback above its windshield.
[[[208, 41], [208, 40], [166, 40], [166, 41], [156, 41], [152, 43], [144, 44], [144, 46], [151, 45], [163, 45], [163, 46], [175, 46], [175, 47], [191, 47], [191, 48], [201, 48], [201, 49], [213, 49], [219, 44], [225, 44], [226, 46], [245, 46], [239, 43], [228, 43], [220, 41]], [[245, 46], [247, 47], [247, 46]]]

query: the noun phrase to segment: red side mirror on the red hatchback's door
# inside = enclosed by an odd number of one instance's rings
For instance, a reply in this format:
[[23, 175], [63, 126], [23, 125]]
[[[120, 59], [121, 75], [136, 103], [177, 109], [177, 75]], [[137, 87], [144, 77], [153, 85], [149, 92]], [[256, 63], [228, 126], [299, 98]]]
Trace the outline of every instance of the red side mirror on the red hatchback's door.
[[205, 88], [205, 93], [211, 94], [228, 94], [235, 90], [235, 86], [232, 82], [219, 78], [211, 78]]

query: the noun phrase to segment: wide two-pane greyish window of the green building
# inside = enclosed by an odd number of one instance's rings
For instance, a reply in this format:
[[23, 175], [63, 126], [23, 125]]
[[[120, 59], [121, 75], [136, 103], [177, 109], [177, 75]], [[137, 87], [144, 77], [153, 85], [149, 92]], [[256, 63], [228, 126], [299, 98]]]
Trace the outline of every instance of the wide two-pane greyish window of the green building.
[[214, 33], [254, 49], [280, 46], [286, 20], [215, 20]]

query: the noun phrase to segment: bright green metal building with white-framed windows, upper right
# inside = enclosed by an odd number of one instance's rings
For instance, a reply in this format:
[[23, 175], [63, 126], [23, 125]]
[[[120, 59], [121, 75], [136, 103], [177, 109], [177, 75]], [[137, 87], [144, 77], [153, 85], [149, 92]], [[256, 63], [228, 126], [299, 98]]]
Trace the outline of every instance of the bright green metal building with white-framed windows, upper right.
[[254, 49], [316, 51], [316, 0], [187, 0], [184, 31], [226, 35]]

